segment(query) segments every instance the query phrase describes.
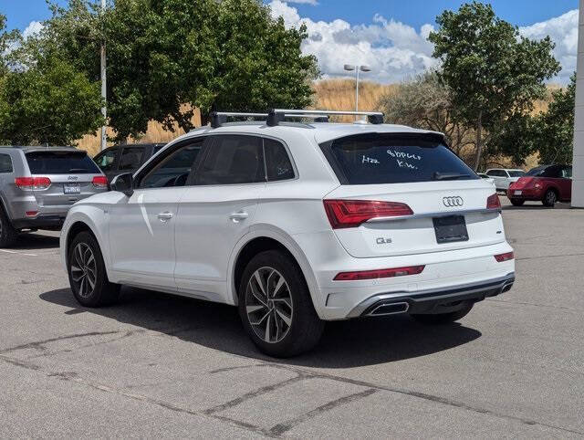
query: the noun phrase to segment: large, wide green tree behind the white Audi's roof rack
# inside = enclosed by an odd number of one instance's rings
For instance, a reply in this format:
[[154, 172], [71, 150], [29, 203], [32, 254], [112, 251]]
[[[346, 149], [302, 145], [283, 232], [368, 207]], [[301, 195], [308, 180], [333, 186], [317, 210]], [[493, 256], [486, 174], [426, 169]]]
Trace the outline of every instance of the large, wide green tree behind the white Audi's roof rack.
[[[108, 116], [119, 140], [149, 120], [172, 130], [212, 110], [305, 107], [318, 74], [303, 56], [306, 29], [286, 29], [256, 0], [116, 0], [107, 13], [88, 0], [53, 6], [47, 36], [89, 79], [108, 50]], [[185, 106], [184, 104], [190, 104]]]

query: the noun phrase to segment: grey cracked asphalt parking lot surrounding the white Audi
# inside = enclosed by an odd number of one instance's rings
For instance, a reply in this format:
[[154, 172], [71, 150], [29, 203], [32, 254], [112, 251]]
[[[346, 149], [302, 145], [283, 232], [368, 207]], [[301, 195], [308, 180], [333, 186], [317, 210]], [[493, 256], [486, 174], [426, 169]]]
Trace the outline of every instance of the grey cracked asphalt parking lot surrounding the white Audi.
[[0, 437], [584, 436], [584, 210], [505, 206], [516, 285], [460, 324], [336, 322], [255, 351], [235, 308], [124, 288], [82, 309], [58, 233], [0, 249]]

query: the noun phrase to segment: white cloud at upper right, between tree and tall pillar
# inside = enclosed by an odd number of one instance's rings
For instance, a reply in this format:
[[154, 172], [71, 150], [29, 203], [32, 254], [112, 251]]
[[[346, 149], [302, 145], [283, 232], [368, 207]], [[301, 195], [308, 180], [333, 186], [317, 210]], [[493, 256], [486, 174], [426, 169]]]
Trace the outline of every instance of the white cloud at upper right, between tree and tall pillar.
[[562, 16], [550, 18], [535, 25], [520, 27], [521, 35], [531, 39], [541, 39], [546, 36], [556, 43], [554, 57], [562, 65], [558, 77], [553, 79], [561, 84], [567, 84], [570, 75], [576, 70], [578, 55], [578, 9], [568, 11]]

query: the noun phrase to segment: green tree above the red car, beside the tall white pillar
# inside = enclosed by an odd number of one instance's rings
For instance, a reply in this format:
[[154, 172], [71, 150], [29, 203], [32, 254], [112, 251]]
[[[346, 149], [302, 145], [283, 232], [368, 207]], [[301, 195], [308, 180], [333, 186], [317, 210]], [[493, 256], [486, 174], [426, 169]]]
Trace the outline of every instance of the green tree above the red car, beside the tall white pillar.
[[534, 149], [541, 163], [571, 163], [574, 141], [576, 73], [568, 87], [552, 92], [547, 110], [534, 119]]

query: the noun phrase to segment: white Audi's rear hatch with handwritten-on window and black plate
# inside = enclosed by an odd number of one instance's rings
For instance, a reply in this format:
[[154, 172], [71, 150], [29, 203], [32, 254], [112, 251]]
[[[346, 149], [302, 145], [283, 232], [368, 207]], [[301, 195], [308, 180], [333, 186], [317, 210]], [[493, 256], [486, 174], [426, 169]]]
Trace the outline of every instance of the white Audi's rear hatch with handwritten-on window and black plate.
[[321, 144], [341, 185], [324, 200], [353, 257], [390, 257], [505, 241], [493, 186], [435, 134], [370, 133]]

